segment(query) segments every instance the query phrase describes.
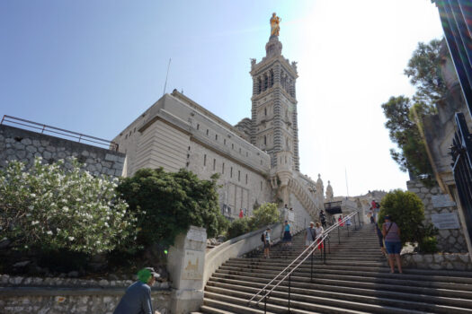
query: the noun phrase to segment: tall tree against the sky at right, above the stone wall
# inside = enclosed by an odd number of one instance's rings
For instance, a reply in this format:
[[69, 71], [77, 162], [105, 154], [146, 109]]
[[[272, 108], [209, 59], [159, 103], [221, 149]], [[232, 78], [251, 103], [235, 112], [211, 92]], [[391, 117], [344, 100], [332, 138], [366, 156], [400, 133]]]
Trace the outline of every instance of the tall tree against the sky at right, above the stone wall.
[[441, 40], [438, 39], [433, 39], [429, 44], [418, 43], [405, 68], [405, 75], [416, 87], [413, 100], [398, 96], [382, 104], [390, 139], [399, 148], [390, 150], [393, 160], [399, 164], [400, 170], [409, 171], [414, 177], [422, 179], [426, 186], [432, 186], [435, 182], [420, 128], [425, 116], [436, 113], [436, 104], [446, 92], [441, 79], [440, 50]]

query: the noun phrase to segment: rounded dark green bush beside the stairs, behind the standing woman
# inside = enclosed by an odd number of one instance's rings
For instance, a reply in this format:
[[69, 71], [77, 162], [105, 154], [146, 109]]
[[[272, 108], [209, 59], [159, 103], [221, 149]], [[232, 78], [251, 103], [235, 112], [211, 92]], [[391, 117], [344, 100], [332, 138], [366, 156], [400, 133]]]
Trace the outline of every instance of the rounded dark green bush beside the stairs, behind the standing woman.
[[[378, 214], [378, 227], [385, 222], [384, 216], [389, 214], [392, 221], [400, 228], [402, 243], [419, 242], [420, 248], [432, 246], [431, 237], [437, 230], [431, 223], [425, 225], [424, 205], [420, 197], [409, 191], [396, 189], [382, 198]], [[431, 250], [431, 249], [430, 249]]]

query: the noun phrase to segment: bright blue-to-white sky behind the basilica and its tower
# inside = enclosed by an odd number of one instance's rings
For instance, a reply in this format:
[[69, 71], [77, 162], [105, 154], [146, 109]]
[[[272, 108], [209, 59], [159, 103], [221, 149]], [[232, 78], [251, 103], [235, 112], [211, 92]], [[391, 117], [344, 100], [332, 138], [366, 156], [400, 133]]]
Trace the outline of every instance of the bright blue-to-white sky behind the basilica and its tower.
[[411, 95], [418, 41], [442, 35], [429, 0], [0, 0], [0, 114], [111, 139], [166, 92], [236, 124], [250, 117], [249, 58], [272, 12], [298, 61], [301, 170], [334, 195], [405, 188], [380, 104]]

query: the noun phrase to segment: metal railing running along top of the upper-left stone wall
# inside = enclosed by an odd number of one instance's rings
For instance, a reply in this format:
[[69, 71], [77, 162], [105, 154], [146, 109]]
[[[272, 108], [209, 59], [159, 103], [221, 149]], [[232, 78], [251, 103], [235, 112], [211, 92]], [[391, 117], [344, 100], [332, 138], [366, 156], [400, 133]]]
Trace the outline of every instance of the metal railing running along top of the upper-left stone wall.
[[[21, 122], [18, 122], [18, 121], [21, 121]], [[44, 134], [44, 132], [49, 132], [49, 133], [54, 133], [54, 134], [58, 134], [58, 135], [64, 135], [64, 136], [76, 138], [77, 142], [79, 142], [79, 143], [82, 140], [82, 141], [86, 141], [86, 142], [90, 142], [90, 143], [94, 143], [94, 144], [107, 145], [107, 146], [110, 147], [111, 150], [113, 150], [115, 152], [118, 152], [118, 144], [117, 143], [114, 143], [112, 141], [105, 140], [105, 139], [102, 139], [102, 138], [99, 138], [99, 137], [95, 137], [95, 136], [91, 136], [91, 135], [85, 135], [85, 134], [82, 134], [82, 133], [77, 133], [77, 132], [74, 132], [74, 131], [65, 130], [63, 128], [59, 128], [59, 127], [56, 127], [56, 126], [48, 126], [48, 125], [45, 125], [45, 124], [40, 124], [38, 122], [26, 120], [24, 118], [16, 118], [16, 117], [13, 117], [13, 116], [8, 116], [8, 115], [4, 115], [4, 118], [2, 118], [2, 121], [0, 122], [0, 125], [3, 125], [4, 122], [10, 122], [10, 123], [13, 123], [15, 125], [35, 128], [35, 129], [41, 130], [41, 132], [40, 132], [41, 134]]]

